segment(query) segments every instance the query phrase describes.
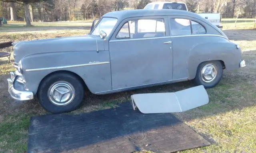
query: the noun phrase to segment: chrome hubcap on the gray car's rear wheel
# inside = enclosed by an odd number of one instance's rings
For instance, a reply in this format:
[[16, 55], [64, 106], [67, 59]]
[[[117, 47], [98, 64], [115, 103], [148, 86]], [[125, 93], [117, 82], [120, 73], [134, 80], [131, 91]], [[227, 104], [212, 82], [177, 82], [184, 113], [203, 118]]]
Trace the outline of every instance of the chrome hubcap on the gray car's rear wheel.
[[213, 64], [207, 64], [201, 71], [201, 78], [204, 82], [212, 82], [217, 76], [217, 68]]

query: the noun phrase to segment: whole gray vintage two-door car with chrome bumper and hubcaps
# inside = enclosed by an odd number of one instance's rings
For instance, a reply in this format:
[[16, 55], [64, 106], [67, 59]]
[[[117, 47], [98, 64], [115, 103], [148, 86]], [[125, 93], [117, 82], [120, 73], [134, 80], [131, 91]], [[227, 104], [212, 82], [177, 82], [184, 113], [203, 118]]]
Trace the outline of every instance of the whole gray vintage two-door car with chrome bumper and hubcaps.
[[182, 10], [110, 12], [88, 35], [16, 43], [14, 61], [12, 98], [37, 95], [54, 114], [78, 108], [86, 89], [109, 94], [187, 80], [212, 88], [223, 69], [246, 66], [218, 27]]

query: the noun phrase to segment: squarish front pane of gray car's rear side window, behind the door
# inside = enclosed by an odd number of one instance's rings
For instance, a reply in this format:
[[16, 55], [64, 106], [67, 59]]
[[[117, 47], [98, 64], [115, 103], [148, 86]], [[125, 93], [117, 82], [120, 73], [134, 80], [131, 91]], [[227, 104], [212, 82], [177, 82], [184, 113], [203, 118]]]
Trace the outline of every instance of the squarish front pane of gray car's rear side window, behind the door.
[[190, 20], [170, 19], [171, 35], [191, 35]]

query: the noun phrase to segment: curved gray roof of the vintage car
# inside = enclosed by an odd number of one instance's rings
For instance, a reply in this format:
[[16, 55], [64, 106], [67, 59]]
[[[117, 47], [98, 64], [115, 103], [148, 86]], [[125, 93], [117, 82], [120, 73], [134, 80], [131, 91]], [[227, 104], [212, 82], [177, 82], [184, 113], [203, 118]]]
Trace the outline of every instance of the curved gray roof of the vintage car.
[[125, 18], [132, 18], [132, 17], [141, 17], [141, 16], [170, 16], [170, 15], [177, 15], [177, 16], [190, 16], [192, 18], [203, 19], [196, 13], [192, 13], [189, 11], [184, 10], [172, 10], [172, 9], [150, 9], [150, 10], [122, 10], [122, 11], [113, 11], [104, 14], [102, 17], [112, 17], [118, 19], [125, 19]]

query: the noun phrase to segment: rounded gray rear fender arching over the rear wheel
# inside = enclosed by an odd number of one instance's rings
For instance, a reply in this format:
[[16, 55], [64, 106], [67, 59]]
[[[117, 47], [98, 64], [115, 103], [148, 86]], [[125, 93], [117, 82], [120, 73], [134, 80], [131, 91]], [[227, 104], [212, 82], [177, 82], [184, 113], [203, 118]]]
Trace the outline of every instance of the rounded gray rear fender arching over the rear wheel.
[[204, 61], [220, 60], [224, 62], [226, 70], [235, 70], [239, 68], [241, 59], [241, 49], [237, 49], [236, 44], [230, 41], [198, 44], [188, 55], [188, 79], [192, 80], [196, 76], [198, 65]]

